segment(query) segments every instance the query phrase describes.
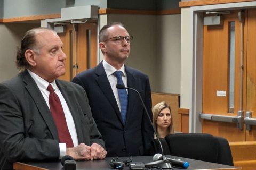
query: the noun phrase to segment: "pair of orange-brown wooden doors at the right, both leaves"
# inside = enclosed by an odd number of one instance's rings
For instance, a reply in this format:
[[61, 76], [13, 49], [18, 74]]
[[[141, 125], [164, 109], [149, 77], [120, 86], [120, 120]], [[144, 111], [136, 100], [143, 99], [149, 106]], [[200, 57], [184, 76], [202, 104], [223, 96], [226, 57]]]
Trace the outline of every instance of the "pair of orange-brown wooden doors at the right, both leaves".
[[[256, 9], [244, 11], [244, 22], [239, 21], [238, 12], [223, 15], [223, 25], [204, 26], [202, 110], [225, 116], [237, 116], [238, 111], [245, 116], [250, 111], [251, 118], [255, 119]], [[234, 73], [233, 77], [230, 72]], [[231, 79], [234, 90], [230, 90]], [[232, 98], [233, 106], [230, 106]], [[230, 142], [256, 140], [255, 125], [249, 129], [243, 124], [243, 129], [239, 129], [236, 123], [202, 121], [204, 133], [225, 137]]]

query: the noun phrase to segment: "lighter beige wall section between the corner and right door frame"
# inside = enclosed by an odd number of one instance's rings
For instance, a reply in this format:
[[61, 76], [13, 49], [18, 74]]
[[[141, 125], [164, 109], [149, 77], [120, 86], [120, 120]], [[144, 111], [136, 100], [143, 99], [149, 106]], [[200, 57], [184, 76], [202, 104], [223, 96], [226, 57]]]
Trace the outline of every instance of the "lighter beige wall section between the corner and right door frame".
[[181, 15], [159, 15], [156, 20], [156, 65], [159, 92], [180, 94]]

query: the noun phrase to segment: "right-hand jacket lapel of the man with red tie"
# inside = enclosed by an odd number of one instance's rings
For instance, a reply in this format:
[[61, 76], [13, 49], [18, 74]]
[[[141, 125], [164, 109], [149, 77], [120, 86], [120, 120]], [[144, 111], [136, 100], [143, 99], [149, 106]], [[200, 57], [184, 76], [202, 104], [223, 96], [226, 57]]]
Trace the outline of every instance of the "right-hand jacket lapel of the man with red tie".
[[[68, 108], [71, 112], [71, 115], [73, 117], [75, 126], [76, 126], [76, 133], [78, 138], [78, 143], [84, 142], [83, 132], [82, 132], [82, 124], [81, 124], [81, 117], [77, 116], [78, 113], [81, 113], [81, 111], [78, 111], [78, 106], [76, 102], [76, 98], [73, 95], [72, 89], [70, 89], [68, 86], [63, 84], [60, 80], [56, 80], [57, 86], [61, 91], [62, 96], [65, 98], [65, 101], [68, 105]], [[77, 114], [75, 114], [77, 113]]]

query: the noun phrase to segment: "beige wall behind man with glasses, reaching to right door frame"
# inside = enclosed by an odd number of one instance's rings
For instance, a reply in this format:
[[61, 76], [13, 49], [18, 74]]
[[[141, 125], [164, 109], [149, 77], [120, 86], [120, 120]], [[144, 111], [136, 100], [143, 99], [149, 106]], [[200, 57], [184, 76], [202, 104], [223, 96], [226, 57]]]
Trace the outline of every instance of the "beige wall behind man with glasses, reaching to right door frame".
[[128, 29], [133, 42], [126, 64], [148, 74], [151, 91], [180, 93], [180, 14], [108, 14], [99, 21], [100, 28], [121, 22]]

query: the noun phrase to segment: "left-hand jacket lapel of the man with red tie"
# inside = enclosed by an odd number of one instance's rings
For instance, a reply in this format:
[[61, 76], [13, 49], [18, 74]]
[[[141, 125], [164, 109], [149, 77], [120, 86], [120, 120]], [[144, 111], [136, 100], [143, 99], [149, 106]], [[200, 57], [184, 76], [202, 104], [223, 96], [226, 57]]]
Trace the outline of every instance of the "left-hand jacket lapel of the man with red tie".
[[23, 72], [22, 77], [23, 77], [23, 81], [26, 84], [25, 88], [28, 90], [30, 96], [33, 98], [39, 113], [42, 115], [45, 123], [49, 127], [49, 130], [52, 134], [53, 139], [59, 140], [58, 131], [55, 126], [54, 120], [52, 118], [51, 111], [47, 106], [47, 104], [45, 103], [44, 97], [42, 96], [41, 91], [37, 87], [36, 82], [29, 75], [27, 70]]

